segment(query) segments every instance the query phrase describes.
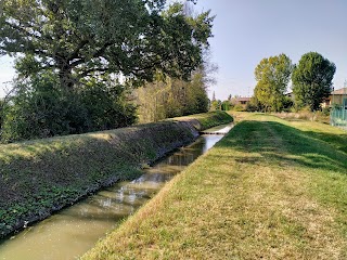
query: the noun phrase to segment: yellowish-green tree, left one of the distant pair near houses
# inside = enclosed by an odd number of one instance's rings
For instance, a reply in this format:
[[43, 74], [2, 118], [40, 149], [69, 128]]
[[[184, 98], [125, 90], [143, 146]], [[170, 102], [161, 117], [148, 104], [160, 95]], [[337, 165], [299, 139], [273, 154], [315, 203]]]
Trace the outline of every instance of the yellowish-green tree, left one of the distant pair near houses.
[[257, 84], [254, 95], [267, 112], [278, 112], [282, 108], [292, 69], [291, 58], [283, 53], [265, 57], [257, 65], [255, 69]]

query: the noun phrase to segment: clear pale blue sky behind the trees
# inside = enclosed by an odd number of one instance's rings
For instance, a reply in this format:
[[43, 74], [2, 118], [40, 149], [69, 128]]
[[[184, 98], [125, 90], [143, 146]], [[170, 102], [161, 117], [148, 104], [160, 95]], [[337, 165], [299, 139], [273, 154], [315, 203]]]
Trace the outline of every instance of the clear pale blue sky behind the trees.
[[[307, 52], [322, 54], [336, 65], [335, 89], [344, 87], [347, 0], [197, 0], [195, 9], [216, 15], [209, 42], [218, 72], [210, 98], [213, 92], [219, 100], [253, 95], [255, 67], [281, 53], [293, 63]], [[14, 76], [12, 66], [9, 57], [0, 57], [0, 95], [2, 82]]]

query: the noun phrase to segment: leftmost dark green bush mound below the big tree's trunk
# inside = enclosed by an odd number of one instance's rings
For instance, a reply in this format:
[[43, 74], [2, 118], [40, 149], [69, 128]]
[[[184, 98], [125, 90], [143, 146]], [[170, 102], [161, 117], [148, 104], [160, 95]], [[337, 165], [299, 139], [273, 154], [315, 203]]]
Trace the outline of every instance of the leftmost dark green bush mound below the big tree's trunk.
[[53, 74], [17, 82], [17, 93], [3, 119], [1, 140], [13, 142], [87, 131], [88, 114], [80, 99], [57, 86]]

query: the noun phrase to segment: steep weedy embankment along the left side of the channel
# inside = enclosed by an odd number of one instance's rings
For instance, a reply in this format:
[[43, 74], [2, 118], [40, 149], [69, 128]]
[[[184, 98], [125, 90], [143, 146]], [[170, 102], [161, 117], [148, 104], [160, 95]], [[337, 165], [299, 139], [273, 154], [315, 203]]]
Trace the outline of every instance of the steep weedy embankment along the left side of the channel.
[[226, 113], [206, 113], [185, 120], [0, 145], [0, 238], [102, 186], [133, 179], [141, 165], [193, 141], [198, 135], [196, 121], [206, 129], [231, 120]]

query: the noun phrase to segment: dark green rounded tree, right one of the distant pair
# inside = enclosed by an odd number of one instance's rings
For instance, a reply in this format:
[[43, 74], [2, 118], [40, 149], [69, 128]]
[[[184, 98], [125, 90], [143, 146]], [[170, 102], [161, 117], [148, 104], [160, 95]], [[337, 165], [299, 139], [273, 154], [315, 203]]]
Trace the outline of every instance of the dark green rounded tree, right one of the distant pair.
[[318, 110], [323, 99], [327, 98], [332, 91], [335, 70], [335, 64], [321, 54], [317, 52], [304, 54], [292, 75], [297, 105]]

